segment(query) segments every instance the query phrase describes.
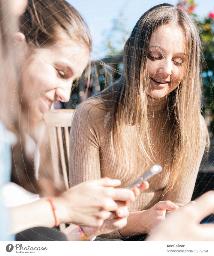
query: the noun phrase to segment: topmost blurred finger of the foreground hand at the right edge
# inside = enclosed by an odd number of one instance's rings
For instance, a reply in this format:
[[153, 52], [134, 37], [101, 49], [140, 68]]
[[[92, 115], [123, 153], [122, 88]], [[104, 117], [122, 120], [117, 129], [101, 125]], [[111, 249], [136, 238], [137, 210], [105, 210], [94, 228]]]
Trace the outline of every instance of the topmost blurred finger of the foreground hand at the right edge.
[[196, 204], [184, 205], [182, 210], [200, 222], [214, 212], [214, 191], [208, 191], [195, 200]]

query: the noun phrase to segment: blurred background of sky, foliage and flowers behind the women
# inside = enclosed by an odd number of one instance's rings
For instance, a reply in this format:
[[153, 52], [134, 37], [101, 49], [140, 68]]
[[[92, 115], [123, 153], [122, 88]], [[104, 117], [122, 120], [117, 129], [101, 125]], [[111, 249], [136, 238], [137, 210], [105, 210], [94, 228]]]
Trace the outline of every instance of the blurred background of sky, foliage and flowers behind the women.
[[[74, 82], [68, 103], [58, 102], [56, 108], [75, 109], [83, 100], [103, 90], [122, 73], [122, 50], [140, 16], [154, 5], [164, 2], [184, 8], [196, 22], [204, 52], [203, 110], [209, 128], [211, 152], [203, 158], [193, 199], [214, 189], [214, 2], [213, 0], [143, 1], [143, 0], [68, 0], [83, 16], [92, 34], [91, 65]], [[106, 67], [104, 63], [109, 66]], [[89, 77], [89, 78], [88, 78]]]

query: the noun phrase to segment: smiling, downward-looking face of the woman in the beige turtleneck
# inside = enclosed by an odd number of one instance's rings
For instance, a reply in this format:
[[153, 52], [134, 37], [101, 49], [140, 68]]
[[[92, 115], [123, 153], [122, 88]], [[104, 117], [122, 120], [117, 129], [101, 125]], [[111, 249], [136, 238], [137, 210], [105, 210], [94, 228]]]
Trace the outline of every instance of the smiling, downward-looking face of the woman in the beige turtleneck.
[[180, 27], [166, 24], [154, 31], [149, 40], [147, 58], [149, 96], [162, 98], [178, 87], [183, 77], [185, 54]]

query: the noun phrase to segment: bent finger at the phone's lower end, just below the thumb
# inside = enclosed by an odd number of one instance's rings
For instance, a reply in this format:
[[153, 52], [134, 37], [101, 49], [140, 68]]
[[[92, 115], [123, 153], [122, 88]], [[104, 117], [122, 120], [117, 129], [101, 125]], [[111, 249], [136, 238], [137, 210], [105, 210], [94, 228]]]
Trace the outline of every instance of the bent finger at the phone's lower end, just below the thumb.
[[127, 188], [115, 188], [111, 191], [110, 196], [115, 201], [134, 202], [135, 200], [134, 192]]

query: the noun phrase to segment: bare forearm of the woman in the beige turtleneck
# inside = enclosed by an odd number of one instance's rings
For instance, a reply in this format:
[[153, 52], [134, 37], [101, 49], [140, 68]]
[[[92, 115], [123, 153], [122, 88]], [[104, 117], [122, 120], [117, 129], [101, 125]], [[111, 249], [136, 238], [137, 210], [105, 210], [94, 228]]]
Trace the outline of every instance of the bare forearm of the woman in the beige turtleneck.
[[146, 211], [130, 212], [127, 220], [127, 225], [119, 229], [120, 234], [123, 237], [128, 237], [131, 235], [140, 235], [147, 233], [146, 228]]

